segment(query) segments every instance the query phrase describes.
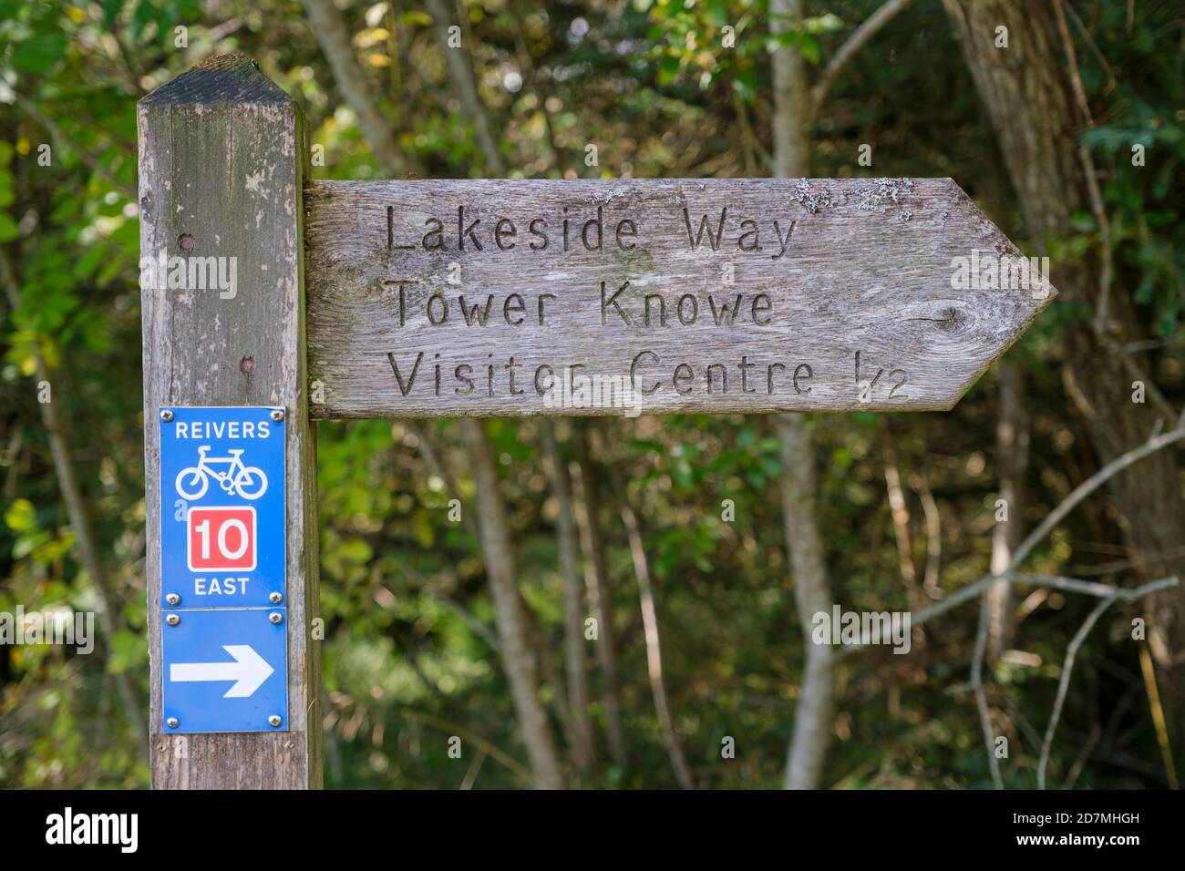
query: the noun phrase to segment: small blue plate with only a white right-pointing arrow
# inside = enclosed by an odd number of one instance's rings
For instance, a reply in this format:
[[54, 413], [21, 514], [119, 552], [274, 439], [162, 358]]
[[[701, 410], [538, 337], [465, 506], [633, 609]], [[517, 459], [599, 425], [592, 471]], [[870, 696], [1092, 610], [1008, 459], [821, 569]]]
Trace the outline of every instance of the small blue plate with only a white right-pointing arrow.
[[288, 729], [287, 608], [171, 608], [162, 616], [166, 734]]

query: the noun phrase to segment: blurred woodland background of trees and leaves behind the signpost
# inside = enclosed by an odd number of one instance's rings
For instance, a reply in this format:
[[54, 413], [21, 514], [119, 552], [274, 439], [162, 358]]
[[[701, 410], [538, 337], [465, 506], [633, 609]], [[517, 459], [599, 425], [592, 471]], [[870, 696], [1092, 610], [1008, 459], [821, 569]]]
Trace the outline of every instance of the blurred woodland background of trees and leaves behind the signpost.
[[148, 784], [135, 102], [228, 51], [314, 178], [949, 175], [1062, 292], [946, 414], [320, 423], [327, 786], [1177, 784], [1185, 589], [1056, 578], [1185, 575], [1179, 4], [0, 0], [0, 611], [101, 628], [0, 786]]

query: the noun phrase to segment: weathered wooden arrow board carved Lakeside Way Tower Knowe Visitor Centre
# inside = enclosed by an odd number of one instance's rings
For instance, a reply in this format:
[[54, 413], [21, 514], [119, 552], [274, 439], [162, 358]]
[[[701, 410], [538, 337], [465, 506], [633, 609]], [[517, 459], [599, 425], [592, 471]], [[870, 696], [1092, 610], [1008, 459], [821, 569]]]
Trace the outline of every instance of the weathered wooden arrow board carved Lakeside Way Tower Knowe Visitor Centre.
[[950, 179], [312, 182], [314, 417], [949, 409], [1052, 299]]

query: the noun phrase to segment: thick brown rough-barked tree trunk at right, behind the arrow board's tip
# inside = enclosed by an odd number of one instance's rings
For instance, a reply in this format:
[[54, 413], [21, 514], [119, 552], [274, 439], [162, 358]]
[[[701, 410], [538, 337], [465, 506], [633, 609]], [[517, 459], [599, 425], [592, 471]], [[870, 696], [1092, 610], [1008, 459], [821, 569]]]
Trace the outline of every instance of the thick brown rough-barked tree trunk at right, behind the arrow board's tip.
[[[995, 128], [1029, 232], [1044, 252], [1055, 237], [1074, 232], [1074, 212], [1090, 211], [1094, 182], [1076, 140], [1084, 121], [1075, 115], [1055, 12], [1045, 4], [1007, 0], [943, 0], [943, 5]], [[1008, 28], [1008, 49], [997, 49], [993, 43], [1001, 25]], [[1051, 265], [1053, 283], [1070, 301], [1106, 312], [1106, 322], [1066, 325], [1064, 376], [1091, 444], [1107, 462], [1142, 443], [1158, 420], [1151, 405], [1132, 402], [1133, 372], [1147, 371], [1146, 356], [1128, 354], [1125, 359], [1116, 353], [1146, 331], [1140, 329], [1139, 313], [1126, 288], [1109, 293], [1106, 269], [1082, 261]], [[1148, 382], [1149, 392], [1153, 386]], [[1127, 520], [1129, 546], [1147, 577], [1185, 577], [1185, 559], [1178, 556], [1185, 547], [1180, 481], [1177, 457], [1170, 451], [1158, 453], [1110, 481]], [[1185, 638], [1185, 588], [1159, 594], [1151, 616], [1149, 642], [1170, 689], [1178, 739], [1185, 739], [1185, 664], [1179, 651]], [[1174, 640], [1177, 651], [1168, 639]]]

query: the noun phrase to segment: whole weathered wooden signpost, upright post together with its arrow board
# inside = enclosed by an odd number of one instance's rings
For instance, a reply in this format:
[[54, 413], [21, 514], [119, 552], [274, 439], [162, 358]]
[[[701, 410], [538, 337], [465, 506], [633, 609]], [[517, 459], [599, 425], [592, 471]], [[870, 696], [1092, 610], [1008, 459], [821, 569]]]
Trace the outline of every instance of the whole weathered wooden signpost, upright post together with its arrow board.
[[[142, 265], [180, 264], [142, 281], [156, 787], [321, 783], [310, 420], [949, 409], [1055, 294], [950, 179], [310, 181], [242, 56], [139, 130]], [[194, 284], [223, 263], [235, 287]], [[288, 711], [179, 735], [161, 415], [236, 405], [287, 416]]]

